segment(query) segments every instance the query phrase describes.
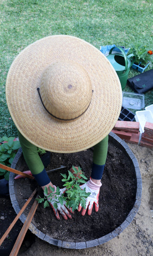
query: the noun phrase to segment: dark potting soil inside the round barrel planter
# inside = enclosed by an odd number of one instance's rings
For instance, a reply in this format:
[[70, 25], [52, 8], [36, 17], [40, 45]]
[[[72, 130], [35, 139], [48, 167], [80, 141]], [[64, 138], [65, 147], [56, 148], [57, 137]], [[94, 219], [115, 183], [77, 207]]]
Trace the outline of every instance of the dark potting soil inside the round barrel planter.
[[[51, 161], [46, 170], [65, 165], [66, 168], [50, 173], [49, 177], [53, 184], [62, 188], [62, 176], [60, 173], [67, 173], [67, 170], [74, 166], [81, 166], [86, 177], [91, 175], [93, 159], [93, 148], [89, 150], [72, 153], [57, 154], [51, 153]], [[26, 168], [24, 167], [23, 170]], [[84, 242], [105, 236], [117, 228], [127, 217], [134, 206], [136, 200], [136, 177], [135, 170], [129, 158], [114, 144], [109, 142], [107, 162], [101, 180], [102, 186], [99, 194], [99, 211], [92, 215], [81, 215], [75, 210], [72, 219], [57, 220], [52, 208], [43, 208], [43, 203], [39, 204], [33, 224], [44, 234], [67, 242]], [[30, 197], [37, 183], [34, 180], [19, 179], [15, 181], [16, 198], [20, 208]], [[42, 189], [39, 195], [43, 197]], [[32, 206], [24, 211], [25, 216]]]

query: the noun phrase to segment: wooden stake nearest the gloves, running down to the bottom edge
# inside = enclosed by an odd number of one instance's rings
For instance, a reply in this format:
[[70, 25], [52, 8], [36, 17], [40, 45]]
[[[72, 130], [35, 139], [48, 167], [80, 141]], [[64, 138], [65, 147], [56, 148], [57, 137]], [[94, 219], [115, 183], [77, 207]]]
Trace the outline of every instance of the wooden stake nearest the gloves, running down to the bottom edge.
[[31, 221], [32, 221], [32, 219], [33, 219], [33, 217], [35, 215], [37, 207], [38, 207], [38, 201], [35, 200], [33, 205], [32, 205], [32, 207], [31, 207], [31, 210], [30, 210], [30, 212], [29, 212], [29, 214], [27, 216], [27, 219], [25, 220], [25, 222], [24, 222], [24, 224], [23, 224], [23, 226], [21, 228], [21, 231], [18, 234], [18, 237], [17, 237], [16, 242], [15, 242], [15, 244], [13, 246], [13, 249], [12, 249], [12, 251], [10, 253], [10, 256], [17, 256], [18, 251], [19, 251], [19, 249], [21, 247], [21, 244], [23, 242], [23, 239], [25, 237], [25, 234], [26, 234], [26, 232], [27, 232], [27, 230], [28, 230], [28, 228], [30, 226], [30, 223], [31, 223]]

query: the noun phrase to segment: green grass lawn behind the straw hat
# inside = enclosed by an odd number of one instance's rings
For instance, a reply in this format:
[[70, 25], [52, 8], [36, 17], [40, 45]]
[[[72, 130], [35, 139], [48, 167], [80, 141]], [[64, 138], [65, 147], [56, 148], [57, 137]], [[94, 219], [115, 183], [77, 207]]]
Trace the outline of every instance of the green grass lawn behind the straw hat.
[[[0, 137], [16, 136], [6, 104], [5, 83], [17, 54], [44, 36], [67, 34], [100, 46], [141, 43], [153, 50], [152, 0], [0, 0]], [[64, 46], [63, 46], [64, 47]], [[153, 60], [147, 70], [152, 69]], [[133, 69], [129, 77], [139, 74]], [[124, 91], [132, 91], [126, 86]], [[152, 90], [145, 105], [153, 103]]]

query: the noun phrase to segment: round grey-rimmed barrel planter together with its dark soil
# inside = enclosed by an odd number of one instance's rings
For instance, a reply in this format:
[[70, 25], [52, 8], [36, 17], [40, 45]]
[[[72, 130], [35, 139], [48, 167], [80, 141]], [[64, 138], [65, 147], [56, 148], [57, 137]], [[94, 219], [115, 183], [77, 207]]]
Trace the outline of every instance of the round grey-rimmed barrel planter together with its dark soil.
[[[93, 148], [71, 154], [52, 153], [50, 164], [46, 170], [55, 168], [60, 164], [64, 164], [70, 170], [73, 163], [74, 166], [81, 166], [89, 179], [92, 159]], [[26, 164], [21, 151], [16, 154], [11, 167], [21, 171], [25, 170]], [[39, 239], [49, 244], [69, 249], [93, 247], [106, 243], [118, 236], [131, 223], [139, 209], [142, 181], [139, 165], [134, 154], [128, 145], [113, 133], [109, 135], [109, 148], [105, 167], [103, 185], [99, 193], [98, 212], [93, 210], [91, 216], [87, 214], [82, 216], [80, 212], [75, 210], [72, 219], [65, 221], [60, 218], [60, 220], [57, 220], [52, 209], [50, 207], [45, 207], [44, 209], [43, 203], [40, 203], [29, 229]], [[52, 177], [56, 187], [62, 187], [63, 183], [67, 183], [69, 175], [71, 177], [71, 174], [69, 172], [65, 173], [65, 170], [58, 170], [50, 173], [50, 178]], [[62, 176], [63, 181], [60, 176]], [[11, 173], [9, 189], [12, 205], [16, 214], [18, 214], [20, 208], [24, 205], [25, 199], [29, 198], [38, 186], [35, 180], [15, 180], [14, 177], [15, 174]], [[71, 181], [72, 179], [70, 178], [68, 183]], [[39, 187], [38, 195], [40, 195], [40, 198], [44, 198], [43, 191]], [[25, 222], [32, 204], [33, 202], [28, 205], [24, 214], [20, 216], [22, 223]]]

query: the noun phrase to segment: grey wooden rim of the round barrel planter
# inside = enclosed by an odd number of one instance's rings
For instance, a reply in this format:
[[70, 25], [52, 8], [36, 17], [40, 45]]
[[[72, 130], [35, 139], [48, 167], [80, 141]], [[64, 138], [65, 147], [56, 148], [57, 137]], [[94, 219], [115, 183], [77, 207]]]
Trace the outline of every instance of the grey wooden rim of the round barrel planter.
[[[93, 240], [83, 241], [83, 242], [69, 242], [69, 241], [63, 241], [59, 239], [55, 239], [53, 237], [50, 237], [47, 233], [42, 232], [35, 223], [35, 221], [30, 224], [29, 229], [32, 233], [34, 233], [38, 238], [42, 239], [43, 241], [48, 242], [49, 244], [56, 245], [58, 247], [63, 248], [69, 248], [69, 249], [83, 249], [83, 248], [89, 248], [94, 247], [97, 245], [104, 244], [108, 242], [109, 240], [115, 238], [118, 236], [129, 224], [133, 221], [141, 203], [141, 194], [142, 194], [142, 180], [141, 180], [141, 174], [139, 169], [138, 161], [133, 154], [133, 152], [130, 150], [129, 146], [120, 139], [117, 135], [114, 133], [109, 134], [109, 142], [115, 145], [116, 148], [121, 150], [124, 155], [129, 159], [131, 168], [134, 170], [134, 177], [136, 180], [136, 194], [134, 195], [134, 205], [132, 209], [128, 212], [125, 219], [122, 223], [120, 223], [114, 230], [111, 232], [105, 234], [102, 237], [97, 237]], [[19, 149], [18, 153], [16, 154], [16, 157], [14, 158], [14, 161], [11, 165], [12, 168], [22, 170], [23, 166], [26, 166], [21, 148]], [[17, 199], [17, 193], [16, 193], [16, 180], [14, 180], [15, 174], [10, 174], [9, 179], [9, 192], [10, 192], [10, 198], [13, 205], [14, 210], [16, 211], [16, 214], [20, 211], [20, 206]], [[102, 182], [103, 183], [103, 182]], [[38, 206], [39, 207], [39, 206]], [[36, 211], [37, 212], [37, 211]], [[22, 223], [24, 223], [25, 219], [27, 217], [23, 214], [20, 216], [20, 220]]]

